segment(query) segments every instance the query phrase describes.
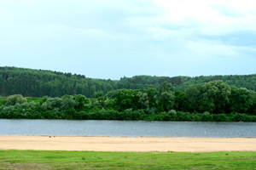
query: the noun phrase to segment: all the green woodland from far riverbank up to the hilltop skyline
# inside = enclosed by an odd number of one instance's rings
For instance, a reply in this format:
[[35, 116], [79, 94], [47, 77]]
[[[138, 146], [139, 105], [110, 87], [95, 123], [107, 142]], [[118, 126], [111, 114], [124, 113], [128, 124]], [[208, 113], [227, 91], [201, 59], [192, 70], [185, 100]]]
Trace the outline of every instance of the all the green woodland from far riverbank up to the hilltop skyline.
[[0, 68], [0, 118], [256, 122], [256, 75], [122, 77]]

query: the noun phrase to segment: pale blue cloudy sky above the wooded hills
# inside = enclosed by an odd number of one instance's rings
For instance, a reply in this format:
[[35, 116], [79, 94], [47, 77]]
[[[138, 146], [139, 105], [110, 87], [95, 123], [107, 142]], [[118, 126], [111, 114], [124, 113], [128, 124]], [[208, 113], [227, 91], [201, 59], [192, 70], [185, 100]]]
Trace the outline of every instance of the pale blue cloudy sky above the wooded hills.
[[91, 78], [256, 73], [253, 0], [0, 0], [0, 66]]

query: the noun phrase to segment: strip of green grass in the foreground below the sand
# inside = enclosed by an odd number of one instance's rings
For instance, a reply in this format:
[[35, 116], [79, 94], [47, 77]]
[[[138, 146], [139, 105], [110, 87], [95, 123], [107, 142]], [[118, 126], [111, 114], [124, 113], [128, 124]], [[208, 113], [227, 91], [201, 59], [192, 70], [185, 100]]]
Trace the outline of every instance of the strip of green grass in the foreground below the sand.
[[0, 169], [255, 169], [256, 152], [0, 150]]

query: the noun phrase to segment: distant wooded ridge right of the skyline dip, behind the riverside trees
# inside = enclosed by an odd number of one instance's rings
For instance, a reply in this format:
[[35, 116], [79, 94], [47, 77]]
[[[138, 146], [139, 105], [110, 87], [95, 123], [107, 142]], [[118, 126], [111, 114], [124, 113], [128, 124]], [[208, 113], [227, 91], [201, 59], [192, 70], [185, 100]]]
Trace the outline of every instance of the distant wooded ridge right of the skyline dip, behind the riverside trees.
[[176, 90], [184, 91], [193, 84], [204, 84], [207, 82], [221, 80], [230, 86], [237, 88], [247, 88], [256, 91], [256, 74], [253, 75], [229, 75], [229, 76], [201, 76], [201, 77], [150, 77], [150, 76], [136, 76], [136, 77], [122, 77], [119, 80], [118, 88], [139, 89], [147, 88], [152, 84], [158, 88], [162, 82], [170, 82]]

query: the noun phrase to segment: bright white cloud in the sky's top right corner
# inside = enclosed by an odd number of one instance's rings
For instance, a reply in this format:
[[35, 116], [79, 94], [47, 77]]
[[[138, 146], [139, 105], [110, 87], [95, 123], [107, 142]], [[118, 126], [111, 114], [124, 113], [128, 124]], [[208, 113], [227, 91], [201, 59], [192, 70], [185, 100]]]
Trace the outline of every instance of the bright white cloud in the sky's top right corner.
[[[256, 31], [256, 3], [224, 0], [154, 0], [165, 8], [159, 23], [190, 26], [203, 35], [222, 36], [236, 31]], [[225, 13], [229, 9], [228, 13]], [[238, 16], [237, 16], [238, 15]]]

